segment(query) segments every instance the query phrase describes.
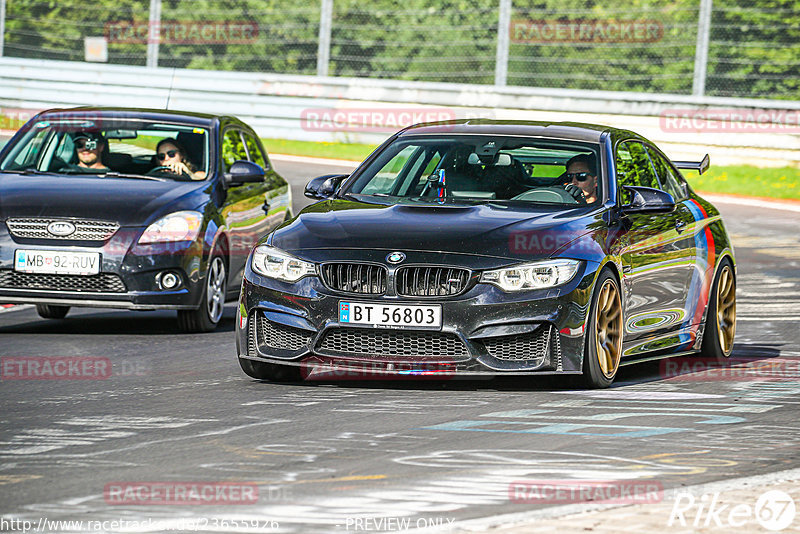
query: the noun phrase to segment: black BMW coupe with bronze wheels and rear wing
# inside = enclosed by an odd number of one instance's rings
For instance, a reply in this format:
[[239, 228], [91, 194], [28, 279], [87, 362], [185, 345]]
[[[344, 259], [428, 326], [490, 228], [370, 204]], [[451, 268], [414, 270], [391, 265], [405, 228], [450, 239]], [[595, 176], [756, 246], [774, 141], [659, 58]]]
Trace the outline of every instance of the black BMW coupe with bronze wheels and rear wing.
[[[257, 379], [582, 375], [736, 327], [719, 212], [643, 137], [573, 123], [457, 121], [392, 136], [247, 261], [238, 357]], [[338, 374], [337, 374], [338, 373]], [[344, 374], [343, 374], [344, 373]]]

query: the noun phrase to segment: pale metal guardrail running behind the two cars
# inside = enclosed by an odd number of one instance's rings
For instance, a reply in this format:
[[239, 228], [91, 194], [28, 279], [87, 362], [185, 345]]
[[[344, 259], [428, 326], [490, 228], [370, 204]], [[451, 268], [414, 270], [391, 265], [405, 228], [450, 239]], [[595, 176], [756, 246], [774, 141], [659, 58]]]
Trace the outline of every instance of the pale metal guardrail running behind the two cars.
[[[712, 162], [800, 163], [800, 135], [773, 132], [673, 131], [670, 109], [791, 110], [798, 101], [496, 87], [271, 73], [146, 68], [84, 62], [0, 58], [0, 107], [125, 106], [236, 115], [263, 137], [378, 143], [398, 129], [311, 127], [314, 110], [444, 110], [449, 118], [575, 121], [635, 130], [673, 158], [708, 151]], [[601, 111], [598, 111], [601, 110]], [[790, 132], [798, 132], [795, 128]]]

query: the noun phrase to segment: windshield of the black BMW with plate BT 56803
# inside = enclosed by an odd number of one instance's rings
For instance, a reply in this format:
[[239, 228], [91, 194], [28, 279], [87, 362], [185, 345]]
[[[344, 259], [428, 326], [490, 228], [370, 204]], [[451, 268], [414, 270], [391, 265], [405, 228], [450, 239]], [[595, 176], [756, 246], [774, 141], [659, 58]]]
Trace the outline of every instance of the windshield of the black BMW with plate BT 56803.
[[593, 204], [599, 146], [501, 136], [401, 138], [347, 191], [388, 203]]

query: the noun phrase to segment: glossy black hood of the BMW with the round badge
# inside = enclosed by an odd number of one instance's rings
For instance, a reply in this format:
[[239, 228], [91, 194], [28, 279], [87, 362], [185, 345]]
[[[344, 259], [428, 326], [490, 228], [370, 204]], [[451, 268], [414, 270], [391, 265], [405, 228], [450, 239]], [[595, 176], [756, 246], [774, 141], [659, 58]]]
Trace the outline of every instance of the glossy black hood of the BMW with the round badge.
[[318, 251], [330, 249], [539, 259], [591, 232], [597, 222], [593, 211], [544, 205], [385, 206], [326, 200], [302, 210], [270, 242], [314, 261], [325, 259]]

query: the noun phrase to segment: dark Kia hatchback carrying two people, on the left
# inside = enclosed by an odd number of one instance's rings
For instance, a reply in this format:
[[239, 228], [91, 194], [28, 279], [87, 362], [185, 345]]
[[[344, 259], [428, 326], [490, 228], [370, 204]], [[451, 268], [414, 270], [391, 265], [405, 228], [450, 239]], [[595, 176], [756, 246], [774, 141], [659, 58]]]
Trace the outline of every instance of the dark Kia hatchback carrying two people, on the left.
[[178, 310], [213, 330], [289, 186], [235, 117], [51, 110], [0, 151], [0, 301]]

